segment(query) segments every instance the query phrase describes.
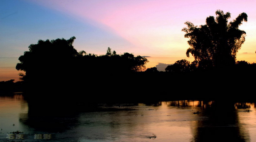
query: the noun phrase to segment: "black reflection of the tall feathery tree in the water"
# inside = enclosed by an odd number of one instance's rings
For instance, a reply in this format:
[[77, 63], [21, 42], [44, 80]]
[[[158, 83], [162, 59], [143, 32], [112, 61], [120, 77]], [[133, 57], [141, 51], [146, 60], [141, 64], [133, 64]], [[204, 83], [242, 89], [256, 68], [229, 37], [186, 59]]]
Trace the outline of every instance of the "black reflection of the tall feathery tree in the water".
[[248, 141], [248, 135], [239, 125], [238, 114], [230, 102], [214, 102], [205, 107], [199, 120], [192, 128], [193, 141]]

